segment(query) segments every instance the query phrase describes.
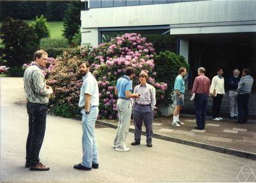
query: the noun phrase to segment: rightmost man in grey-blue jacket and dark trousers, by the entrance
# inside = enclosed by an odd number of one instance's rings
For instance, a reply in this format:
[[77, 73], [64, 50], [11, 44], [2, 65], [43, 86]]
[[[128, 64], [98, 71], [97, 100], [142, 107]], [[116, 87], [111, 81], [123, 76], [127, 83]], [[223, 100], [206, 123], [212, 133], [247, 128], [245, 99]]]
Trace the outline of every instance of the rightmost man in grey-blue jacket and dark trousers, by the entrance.
[[250, 76], [250, 70], [243, 70], [243, 77], [238, 83], [237, 88], [237, 106], [238, 106], [238, 121], [237, 123], [247, 123], [249, 113], [249, 98], [252, 92], [253, 77]]

